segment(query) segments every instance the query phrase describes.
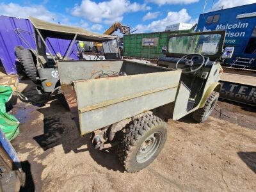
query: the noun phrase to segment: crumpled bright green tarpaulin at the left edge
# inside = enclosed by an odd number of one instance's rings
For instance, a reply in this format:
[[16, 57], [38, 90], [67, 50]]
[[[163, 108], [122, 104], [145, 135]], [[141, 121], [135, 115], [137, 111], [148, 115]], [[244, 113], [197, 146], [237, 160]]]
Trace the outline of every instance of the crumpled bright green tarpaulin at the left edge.
[[0, 85], [0, 129], [4, 132], [8, 140], [13, 140], [19, 134], [19, 121], [15, 116], [6, 113], [5, 104], [12, 97], [10, 86]]

